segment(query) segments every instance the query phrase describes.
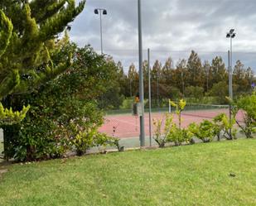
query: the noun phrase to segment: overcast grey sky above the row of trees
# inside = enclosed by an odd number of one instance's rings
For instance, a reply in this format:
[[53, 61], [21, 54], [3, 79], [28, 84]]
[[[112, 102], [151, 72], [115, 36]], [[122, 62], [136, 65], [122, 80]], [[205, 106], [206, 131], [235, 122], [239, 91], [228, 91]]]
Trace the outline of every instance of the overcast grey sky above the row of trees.
[[[104, 53], [121, 60], [125, 70], [132, 62], [138, 65], [137, 0], [87, 0], [72, 23], [71, 40], [100, 52], [98, 7], [108, 11], [102, 17]], [[176, 64], [196, 50], [202, 61], [221, 55], [227, 62], [225, 35], [234, 28], [234, 62], [241, 60], [256, 71], [255, 22], [256, 0], [142, 0], [143, 58], [150, 48], [152, 63], [171, 56]]]

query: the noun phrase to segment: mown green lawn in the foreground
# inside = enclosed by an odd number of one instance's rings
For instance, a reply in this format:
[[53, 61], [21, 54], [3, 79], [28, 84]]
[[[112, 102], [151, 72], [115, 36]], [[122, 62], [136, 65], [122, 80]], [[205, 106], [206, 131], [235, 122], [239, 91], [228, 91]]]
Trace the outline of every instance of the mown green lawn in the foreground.
[[8, 170], [0, 178], [0, 205], [256, 205], [255, 139], [50, 160]]

